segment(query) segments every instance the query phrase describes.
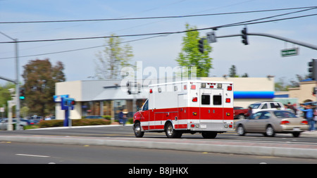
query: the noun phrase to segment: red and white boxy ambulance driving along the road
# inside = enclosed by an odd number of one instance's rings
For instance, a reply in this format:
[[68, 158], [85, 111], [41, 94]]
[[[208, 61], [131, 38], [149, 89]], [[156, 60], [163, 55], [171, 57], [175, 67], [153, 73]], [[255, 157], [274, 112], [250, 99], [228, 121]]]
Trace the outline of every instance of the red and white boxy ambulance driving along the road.
[[149, 85], [149, 98], [133, 116], [135, 136], [166, 132], [169, 138], [201, 133], [215, 138], [233, 130], [233, 83], [188, 80]]

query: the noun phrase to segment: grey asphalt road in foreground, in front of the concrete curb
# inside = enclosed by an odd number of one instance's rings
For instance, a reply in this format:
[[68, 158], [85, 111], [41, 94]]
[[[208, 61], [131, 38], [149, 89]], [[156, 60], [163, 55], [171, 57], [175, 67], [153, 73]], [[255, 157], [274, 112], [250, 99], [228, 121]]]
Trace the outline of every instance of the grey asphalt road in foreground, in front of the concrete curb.
[[[316, 164], [316, 159], [1, 141], [1, 164]], [[182, 165], [184, 166], [184, 165]], [[132, 167], [132, 165], [130, 166]], [[186, 167], [186, 165], [185, 165]], [[128, 171], [128, 170], [127, 170]]]

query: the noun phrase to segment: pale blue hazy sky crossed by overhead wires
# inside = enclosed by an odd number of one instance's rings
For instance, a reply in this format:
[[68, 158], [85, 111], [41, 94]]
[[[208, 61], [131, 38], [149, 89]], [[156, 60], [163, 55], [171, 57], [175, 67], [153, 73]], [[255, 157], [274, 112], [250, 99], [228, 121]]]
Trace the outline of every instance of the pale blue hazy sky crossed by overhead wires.
[[[105, 18], [143, 18], [171, 15], [197, 15], [209, 13], [231, 13], [240, 11], [261, 11], [279, 8], [297, 8], [317, 6], [314, 0], [281, 1], [281, 0], [138, 0], [138, 1], [75, 1], [75, 0], [0, 0], [0, 22], [39, 21], [39, 20], [86, 20]], [[164, 18], [148, 20], [112, 20], [73, 23], [0, 23], [0, 32], [18, 41], [64, 39], [79, 37], [108, 37], [111, 34], [144, 34], [156, 32], [180, 32], [185, 24], [197, 28], [215, 27], [230, 23], [239, 23], [272, 15], [290, 13], [302, 9], [287, 11], [270, 11], [259, 13], [241, 13], [231, 15], [206, 15], [190, 18]], [[267, 20], [290, 18], [299, 15], [316, 14], [317, 8], [290, 15], [282, 15]], [[317, 45], [317, 15], [306, 18], [295, 18], [271, 23], [223, 27], [215, 31], [216, 36], [240, 34], [243, 27], [248, 32], [274, 34], [294, 39], [299, 42]], [[206, 36], [212, 30], [201, 30], [199, 35]], [[142, 67], [175, 68], [175, 61], [182, 48], [182, 37], [185, 33], [168, 34], [161, 37], [120, 37], [123, 42], [132, 46], [135, 61], [142, 61]], [[147, 37], [153, 37], [144, 39]], [[0, 34], [0, 42], [11, 42], [12, 39]], [[275, 76], [280, 79], [295, 80], [296, 75], [308, 74], [308, 62], [317, 58], [317, 51], [283, 42], [268, 37], [249, 36], [249, 45], [242, 44], [241, 37], [217, 39], [210, 44], [213, 68], [209, 77], [222, 77], [229, 74], [232, 65], [237, 68], [237, 75], [247, 73], [249, 77]], [[20, 75], [23, 65], [31, 60], [49, 58], [53, 65], [61, 61], [65, 65], [63, 71], [66, 81], [93, 80], [97, 53], [104, 49], [105, 39], [81, 39], [56, 42], [18, 43]], [[101, 46], [101, 47], [94, 47]], [[94, 48], [92, 48], [94, 47]], [[298, 56], [281, 57], [280, 50], [299, 48]], [[83, 49], [64, 53], [74, 49]], [[44, 54], [46, 53], [46, 54]], [[51, 54], [47, 54], [51, 53]], [[44, 54], [44, 55], [39, 55]], [[37, 56], [38, 55], [38, 56]], [[15, 45], [0, 43], [0, 76], [15, 79]], [[28, 56], [28, 57], [25, 57]], [[144, 76], [147, 77], [147, 76]], [[23, 83], [23, 78], [20, 77]], [[0, 80], [0, 84], [5, 84]]]

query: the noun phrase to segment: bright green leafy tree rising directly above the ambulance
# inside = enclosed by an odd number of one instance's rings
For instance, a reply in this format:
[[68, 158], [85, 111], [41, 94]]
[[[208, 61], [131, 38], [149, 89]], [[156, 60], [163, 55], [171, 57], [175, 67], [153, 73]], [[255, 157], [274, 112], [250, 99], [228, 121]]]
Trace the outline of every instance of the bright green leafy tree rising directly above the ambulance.
[[[209, 53], [211, 53], [211, 46], [208, 42], [204, 40], [204, 53], [199, 52], [199, 32], [195, 29], [197, 27], [186, 26], [186, 35], [183, 37], [182, 42], [182, 51], [179, 53], [178, 65], [184, 67], [196, 67], [197, 68], [197, 77], [208, 77], [209, 69], [212, 68], [211, 60]], [[190, 75], [190, 71], [189, 71]]]

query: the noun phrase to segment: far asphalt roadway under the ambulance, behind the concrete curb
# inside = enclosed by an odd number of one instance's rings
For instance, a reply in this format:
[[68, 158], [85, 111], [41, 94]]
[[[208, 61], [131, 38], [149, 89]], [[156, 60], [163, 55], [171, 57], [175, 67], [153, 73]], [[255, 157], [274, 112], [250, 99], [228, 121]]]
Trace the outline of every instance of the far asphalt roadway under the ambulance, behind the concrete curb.
[[[106, 127], [63, 127], [61, 129], [32, 129], [32, 130], [15, 130], [0, 131], [1, 135], [46, 135], [46, 136], [92, 136], [92, 137], [125, 137], [135, 138], [132, 126], [106, 126]], [[144, 138], [167, 139], [165, 133], [146, 132]], [[182, 134], [182, 139], [203, 139], [201, 134]], [[204, 139], [206, 140], [206, 139]], [[292, 134], [276, 134], [274, 137], [266, 137], [263, 134], [247, 134], [238, 136], [234, 131], [218, 134], [216, 140], [220, 141], [259, 141], [268, 143], [288, 143], [288, 144], [313, 144], [317, 145], [316, 136], [299, 136], [294, 138]]]

